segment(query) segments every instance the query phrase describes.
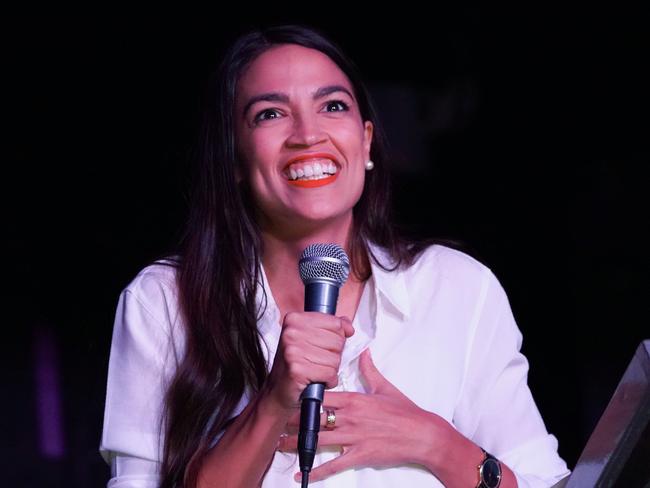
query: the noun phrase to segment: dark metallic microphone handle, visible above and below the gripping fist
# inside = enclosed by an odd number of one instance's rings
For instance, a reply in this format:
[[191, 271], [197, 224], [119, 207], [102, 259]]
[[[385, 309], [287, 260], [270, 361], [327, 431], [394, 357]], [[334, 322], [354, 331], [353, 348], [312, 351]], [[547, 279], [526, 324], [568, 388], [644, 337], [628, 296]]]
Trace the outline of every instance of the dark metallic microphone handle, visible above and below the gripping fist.
[[[317, 281], [305, 285], [305, 312], [336, 313], [339, 287], [328, 281]], [[320, 409], [325, 394], [324, 383], [307, 385], [300, 395], [300, 430], [298, 432], [298, 460], [300, 471], [309, 473], [314, 465], [318, 432], [320, 431]]]

